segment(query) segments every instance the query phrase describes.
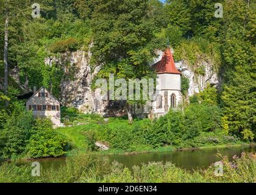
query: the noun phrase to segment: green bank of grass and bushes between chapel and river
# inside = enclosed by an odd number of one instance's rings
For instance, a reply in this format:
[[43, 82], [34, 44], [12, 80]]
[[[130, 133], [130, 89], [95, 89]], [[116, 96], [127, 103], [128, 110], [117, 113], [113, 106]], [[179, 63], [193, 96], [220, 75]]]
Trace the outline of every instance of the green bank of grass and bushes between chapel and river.
[[[212, 90], [212, 89], [208, 89]], [[229, 133], [227, 118], [216, 106], [215, 96], [206, 98], [200, 93], [197, 100], [184, 110], [170, 110], [165, 116], [151, 121], [135, 119], [132, 124], [126, 118], [109, 118], [77, 114], [70, 118], [72, 127], [57, 131], [71, 140], [73, 147], [84, 151], [96, 151], [95, 142], [110, 147], [110, 152], [154, 151], [184, 147], [239, 144], [247, 139]], [[72, 109], [73, 110], [73, 109]], [[79, 121], [80, 126], [77, 126]]]

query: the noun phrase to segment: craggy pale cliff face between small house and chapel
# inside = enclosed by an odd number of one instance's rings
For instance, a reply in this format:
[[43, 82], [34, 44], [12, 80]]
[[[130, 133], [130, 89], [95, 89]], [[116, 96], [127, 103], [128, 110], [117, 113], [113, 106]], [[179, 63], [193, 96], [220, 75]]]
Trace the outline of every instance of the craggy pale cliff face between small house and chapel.
[[125, 102], [99, 101], [97, 91], [91, 90], [91, 84], [101, 66], [91, 67], [91, 52], [76, 51], [45, 59], [46, 65], [55, 63], [63, 68], [64, 76], [60, 86], [60, 102], [66, 107], [76, 107], [80, 112], [98, 113], [102, 116], [122, 116]]

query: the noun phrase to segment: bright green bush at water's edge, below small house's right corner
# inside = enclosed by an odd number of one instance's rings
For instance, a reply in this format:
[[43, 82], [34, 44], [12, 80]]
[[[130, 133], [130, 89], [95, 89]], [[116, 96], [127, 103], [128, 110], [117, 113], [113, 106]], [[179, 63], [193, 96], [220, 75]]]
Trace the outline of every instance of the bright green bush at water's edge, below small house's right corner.
[[66, 138], [52, 129], [52, 122], [49, 119], [37, 119], [26, 152], [30, 158], [58, 157], [66, 154], [67, 145]]

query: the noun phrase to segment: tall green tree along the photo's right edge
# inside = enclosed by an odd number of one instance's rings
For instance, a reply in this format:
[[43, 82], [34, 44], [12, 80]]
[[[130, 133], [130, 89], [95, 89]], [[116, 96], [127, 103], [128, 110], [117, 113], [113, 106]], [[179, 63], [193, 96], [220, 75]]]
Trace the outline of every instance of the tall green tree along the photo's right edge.
[[255, 134], [255, 2], [225, 2], [229, 31], [224, 37], [221, 100], [229, 131], [244, 138], [249, 131]]

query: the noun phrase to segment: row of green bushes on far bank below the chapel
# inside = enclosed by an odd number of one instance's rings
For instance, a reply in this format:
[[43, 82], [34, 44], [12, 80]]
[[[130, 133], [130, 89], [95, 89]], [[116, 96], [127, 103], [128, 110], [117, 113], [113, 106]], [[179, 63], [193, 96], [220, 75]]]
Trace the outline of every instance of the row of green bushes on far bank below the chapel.
[[[222, 139], [224, 136], [219, 108], [207, 105], [191, 105], [185, 113], [170, 111], [155, 121], [138, 120], [132, 126], [116, 119], [115, 122], [91, 129], [96, 131], [97, 140], [108, 141], [113, 149], [124, 151], [136, 151], [138, 147], [147, 146], [196, 147], [202, 146], [196, 138], [213, 136]], [[221, 142], [218, 140], [216, 144]], [[210, 141], [206, 143], [211, 144]]]

